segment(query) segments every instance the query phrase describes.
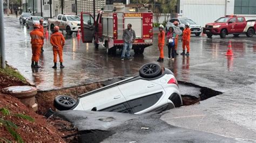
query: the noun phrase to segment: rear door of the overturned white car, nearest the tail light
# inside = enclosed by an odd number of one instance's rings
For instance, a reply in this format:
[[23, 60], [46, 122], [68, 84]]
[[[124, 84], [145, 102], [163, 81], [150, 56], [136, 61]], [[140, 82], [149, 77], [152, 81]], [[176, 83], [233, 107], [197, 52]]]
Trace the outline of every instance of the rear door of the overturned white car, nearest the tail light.
[[[145, 110], [151, 111], [153, 108], [159, 108], [159, 106], [155, 105], [160, 99], [158, 98], [159, 94], [165, 94], [161, 85], [147, 80], [124, 83], [118, 85], [118, 88], [134, 113], [142, 113]], [[164, 102], [167, 104], [167, 101]], [[156, 107], [152, 107], [154, 105]]]

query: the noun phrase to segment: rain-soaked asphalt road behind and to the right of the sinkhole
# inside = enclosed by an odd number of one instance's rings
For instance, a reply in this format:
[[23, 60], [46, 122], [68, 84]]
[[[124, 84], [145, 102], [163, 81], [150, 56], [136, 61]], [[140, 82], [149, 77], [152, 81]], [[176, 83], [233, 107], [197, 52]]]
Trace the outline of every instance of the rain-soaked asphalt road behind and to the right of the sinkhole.
[[[95, 51], [92, 44], [83, 44], [75, 37], [67, 37], [64, 34], [66, 38], [64, 65], [66, 67], [63, 70], [51, 69], [53, 56], [48, 40], [45, 41], [45, 52], [41, 58], [43, 68], [32, 71], [30, 68], [30, 30], [20, 26], [15, 19], [5, 18], [5, 24], [9, 25], [5, 27], [6, 60], [21, 71], [26, 78], [35, 82], [41, 90], [137, 74], [140, 66], [147, 62], [155, 62], [159, 56], [157, 46], [153, 45], [145, 49], [143, 56], [136, 56], [131, 61], [121, 62], [120, 55], [106, 55], [103, 47]], [[212, 39], [192, 36], [189, 57], [179, 55], [174, 61], [167, 61], [165, 58], [161, 66], [170, 68], [178, 81], [208, 87], [221, 91], [223, 94], [201, 101], [197, 105], [182, 106], [166, 111], [160, 119], [177, 127], [214, 133], [240, 141], [255, 142], [255, 39], [255, 36], [247, 38], [245, 35], [238, 38], [228, 35], [225, 39], [220, 39], [219, 36]], [[229, 40], [232, 41], [234, 56], [225, 56]], [[157, 42], [156, 39], [154, 41]], [[179, 42], [178, 49], [180, 53], [181, 42]], [[165, 47], [165, 57], [166, 52], [167, 47]], [[136, 126], [136, 123], [133, 124]], [[124, 126], [126, 127], [129, 128], [129, 126]], [[125, 131], [122, 131], [124, 137], [127, 137]], [[128, 135], [130, 135], [129, 138], [140, 138], [139, 133]], [[210, 137], [215, 138], [215, 136]], [[112, 138], [106, 140], [112, 140]], [[193, 141], [200, 142], [196, 137]], [[233, 141], [227, 140], [227, 142]]]

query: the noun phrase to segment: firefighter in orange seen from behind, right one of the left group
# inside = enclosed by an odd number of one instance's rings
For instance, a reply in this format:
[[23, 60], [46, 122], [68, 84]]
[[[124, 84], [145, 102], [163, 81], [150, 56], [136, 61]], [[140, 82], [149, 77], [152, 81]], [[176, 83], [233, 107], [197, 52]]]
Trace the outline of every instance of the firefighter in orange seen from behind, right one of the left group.
[[62, 33], [59, 33], [59, 26], [54, 26], [54, 32], [51, 34], [51, 45], [53, 50], [53, 62], [54, 66], [52, 68], [57, 68], [57, 55], [59, 55], [59, 62], [60, 62], [60, 68], [64, 68], [62, 65], [63, 58], [62, 58], [62, 50], [63, 46], [65, 45], [65, 39], [62, 35]]

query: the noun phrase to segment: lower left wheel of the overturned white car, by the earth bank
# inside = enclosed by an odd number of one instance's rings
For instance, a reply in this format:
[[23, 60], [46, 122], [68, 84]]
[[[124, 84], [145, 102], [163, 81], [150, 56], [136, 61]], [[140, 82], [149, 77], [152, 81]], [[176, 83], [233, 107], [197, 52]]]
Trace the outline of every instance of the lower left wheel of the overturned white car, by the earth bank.
[[53, 105], [56, 109], [62, 110], [69, 110], [77, 103], [76, 99], [66, 96], [66, 95], [59, 95], [56, 96], [53, 102]]

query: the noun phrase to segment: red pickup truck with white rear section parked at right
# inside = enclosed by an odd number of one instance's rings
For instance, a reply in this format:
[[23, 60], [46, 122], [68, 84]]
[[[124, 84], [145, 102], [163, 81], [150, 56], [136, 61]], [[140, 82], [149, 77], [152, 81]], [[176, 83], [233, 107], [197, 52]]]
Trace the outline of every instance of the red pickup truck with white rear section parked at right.
[[255, 20], [246, 21], [242, 16], [225, 16], [214, 23], [206, 24], [203, 33], [207, 34], [208, 38], [211, 38], [212, 35], [220, 35], [220, 38], [225, 38], [228, 34], [233, 34], [235, 37], [238, 37], [239, 34], [253, 37], [255, 30]]

